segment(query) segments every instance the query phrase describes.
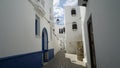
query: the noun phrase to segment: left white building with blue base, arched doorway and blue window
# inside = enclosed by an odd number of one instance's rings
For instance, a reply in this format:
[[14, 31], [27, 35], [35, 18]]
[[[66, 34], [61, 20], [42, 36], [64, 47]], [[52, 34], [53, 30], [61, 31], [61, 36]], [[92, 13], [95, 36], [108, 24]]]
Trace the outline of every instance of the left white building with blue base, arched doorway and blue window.
[[0, 1], [0, 68], [41, 68], [54, 57], [52, 3]]

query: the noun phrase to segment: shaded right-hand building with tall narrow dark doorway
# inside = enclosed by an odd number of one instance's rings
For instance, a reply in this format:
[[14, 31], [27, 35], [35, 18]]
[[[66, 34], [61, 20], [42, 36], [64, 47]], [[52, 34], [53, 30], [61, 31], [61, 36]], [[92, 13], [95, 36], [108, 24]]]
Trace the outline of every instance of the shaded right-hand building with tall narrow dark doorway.
[[87, 68], [120, 68], [120, 1], [79, 0], [86, 7], [83, 41]]

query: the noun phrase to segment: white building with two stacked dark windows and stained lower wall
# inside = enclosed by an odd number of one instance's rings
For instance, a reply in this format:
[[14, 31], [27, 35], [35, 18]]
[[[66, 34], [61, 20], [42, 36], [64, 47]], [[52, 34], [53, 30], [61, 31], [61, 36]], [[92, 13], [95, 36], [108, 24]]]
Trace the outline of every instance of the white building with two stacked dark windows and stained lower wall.
[[76, 54], [78, 42], [82, 41], [79, 6], [65, 7], [66, 52]]

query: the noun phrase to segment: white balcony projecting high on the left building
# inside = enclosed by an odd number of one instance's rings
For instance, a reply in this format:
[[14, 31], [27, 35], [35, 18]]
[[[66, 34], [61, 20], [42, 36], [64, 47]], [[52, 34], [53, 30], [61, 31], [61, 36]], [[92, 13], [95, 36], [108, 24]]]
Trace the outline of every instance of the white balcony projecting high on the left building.
[[42, 16], [45, 15], [46, 11], [44, 9], [44, 3], [41, 0], [29, 0], [29, 2], [33, 5], [34, 9]]

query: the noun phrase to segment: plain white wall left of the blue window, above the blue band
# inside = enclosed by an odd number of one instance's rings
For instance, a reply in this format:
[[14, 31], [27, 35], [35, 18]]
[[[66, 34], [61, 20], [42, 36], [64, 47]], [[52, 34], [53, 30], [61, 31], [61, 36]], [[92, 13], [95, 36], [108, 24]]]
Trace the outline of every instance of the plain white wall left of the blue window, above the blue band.
[[0, 1], [0, 58], [41, 51], [35, 12], [27, 0]]

